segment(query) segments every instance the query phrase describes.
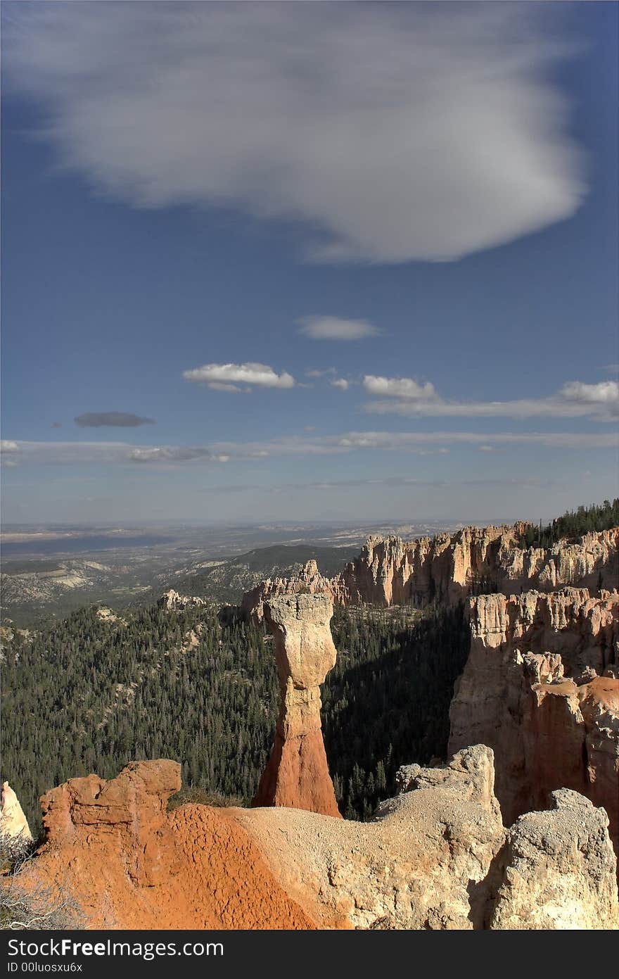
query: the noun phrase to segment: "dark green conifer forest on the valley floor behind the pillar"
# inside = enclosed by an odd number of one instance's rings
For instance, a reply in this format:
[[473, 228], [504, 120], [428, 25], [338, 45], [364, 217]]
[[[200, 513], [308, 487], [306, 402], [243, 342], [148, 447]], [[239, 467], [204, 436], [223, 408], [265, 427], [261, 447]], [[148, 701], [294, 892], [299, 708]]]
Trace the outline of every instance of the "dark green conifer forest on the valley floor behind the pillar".
[[[402, 764], [443, 758], [464, 611], [338, 609], [337, 664], [323, 688], [325, 744], [344, 816], [368, 818]], [[214, 609], [157, 605], [112, 621], [85, 608], [5, 645], [2, 778], [33, 832], [38, 797], [127, 762], [182, 763], [178, 798], [247, 805], [279, 705], [272, 640], [222, 628]]]

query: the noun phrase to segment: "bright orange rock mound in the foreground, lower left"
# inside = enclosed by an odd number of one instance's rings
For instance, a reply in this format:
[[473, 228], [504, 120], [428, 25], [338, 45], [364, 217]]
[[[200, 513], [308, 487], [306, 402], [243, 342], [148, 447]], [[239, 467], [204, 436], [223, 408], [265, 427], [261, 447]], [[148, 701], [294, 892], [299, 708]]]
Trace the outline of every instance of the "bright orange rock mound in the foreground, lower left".
[[180, 766], [160, 760], [46, 793], [47, 842], [23, 892], [60, 892], [89, 928], [313, 928], [232, 811], [167, 811], [179, 786]]

